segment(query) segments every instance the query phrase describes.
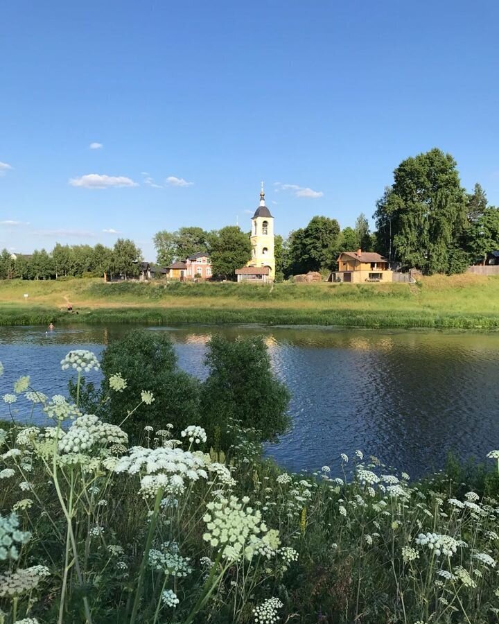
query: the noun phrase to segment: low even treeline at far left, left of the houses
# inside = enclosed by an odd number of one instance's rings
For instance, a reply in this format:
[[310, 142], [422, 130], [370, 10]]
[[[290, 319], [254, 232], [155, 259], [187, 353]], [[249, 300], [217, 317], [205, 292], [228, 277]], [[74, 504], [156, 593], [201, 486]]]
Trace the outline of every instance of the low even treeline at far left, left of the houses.
[[113, 248], [98, 243], [60, 245], [51, 252], [35, 250], [33, 254], [0, 254], [0, 279], [57, 279], [60, 277], [137, 277], [141, 250], [130, 239], [118, 239]]

